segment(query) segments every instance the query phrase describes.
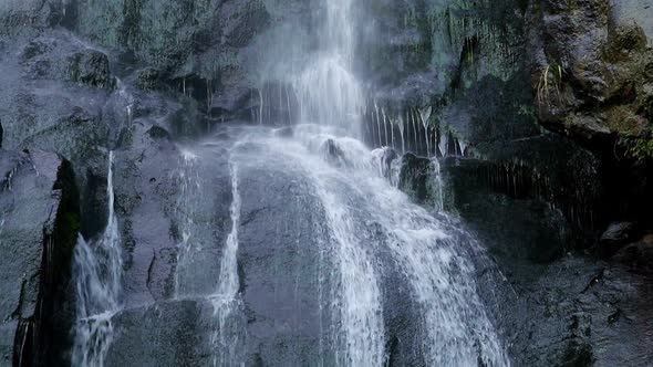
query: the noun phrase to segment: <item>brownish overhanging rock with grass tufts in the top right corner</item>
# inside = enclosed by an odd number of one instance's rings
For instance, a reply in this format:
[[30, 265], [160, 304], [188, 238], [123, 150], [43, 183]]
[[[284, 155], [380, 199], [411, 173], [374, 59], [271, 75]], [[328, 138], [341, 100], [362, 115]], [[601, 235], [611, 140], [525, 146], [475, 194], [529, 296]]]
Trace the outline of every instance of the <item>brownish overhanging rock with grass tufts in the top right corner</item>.
[[[641, 1], [536, 1], [528, 53], [540, 120], [598, 151], [651, 138], [651, 15]], [[634, 141], [624, 141], [628, 149]], [[634, 151], [633, 151], [634, 153]], [[644, 154], [644, 151], [640, 151]]]

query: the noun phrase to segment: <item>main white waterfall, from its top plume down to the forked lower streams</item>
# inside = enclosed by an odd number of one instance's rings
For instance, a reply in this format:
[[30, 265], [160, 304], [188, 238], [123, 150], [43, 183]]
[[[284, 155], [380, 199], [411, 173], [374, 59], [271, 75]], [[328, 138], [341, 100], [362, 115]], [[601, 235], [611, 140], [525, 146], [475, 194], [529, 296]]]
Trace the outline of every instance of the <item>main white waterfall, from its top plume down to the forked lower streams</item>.
[[[332, 127], [298, 126], [294, 140], [300, 144], [278, 138], [258, 141], [270, 154], [297, 161], [324, 208], [340, 274], [332, 305], [338, 308], [334, 344], [343, 352], [336, 361], [344, 366], [382, 366], [387, 361], [379, 275], [383, 266], [375, 256], [383, 248], [393, 254], [419, 304], [425, 365], [509, 365], [476, 293], [467, 253], [444, 223], [396, 189], [398, 159], [383, 159], [387, 151], [371, 153], [355, 139], [360, 137], [359, 113], [364, 98], [352, 73], [352, 0], [326, 1], [321, 51], [302, 73], [291, 77], [301, 120], [343, 127], [343, 133], [334, 134]], [[388, 130], [385, 112], [375, 106], [373, 114], [379, 141], [390, 145], [392, 139], [394, 145], [394, 129], [390, 126]], [[410, 112], [405, 120], [406, 139], [413, 139], [415, 147], [425, 144], [427, 154], [429, 117], [431, 111]], [[424, 125], [425, 141], [418, 140], [418, 125]], [[401, 133], [404, 145], [403, 129]], [[439, 171], [439, 166], [434, 168]], [[439, 179], [439, 172], [436, 176]], [[436, 209], [440, 210], [442, 182], [437, 184]], [[365, 235], [370, 221], [376, 228], [375, 241]]]

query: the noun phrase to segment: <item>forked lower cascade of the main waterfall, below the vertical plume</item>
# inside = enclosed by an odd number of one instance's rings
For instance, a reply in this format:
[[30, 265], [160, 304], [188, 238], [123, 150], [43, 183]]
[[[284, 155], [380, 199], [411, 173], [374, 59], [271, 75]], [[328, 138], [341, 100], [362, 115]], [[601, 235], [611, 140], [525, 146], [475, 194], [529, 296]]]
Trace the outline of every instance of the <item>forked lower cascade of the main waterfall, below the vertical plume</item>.
[[[384, 252], [407, 280], [421, 315], [423, 328], [414, 332], [421, 333], [425, 366], [510, 365], [477, 292], [470, 259], [483, 254], [468, 234], [395, 187], [401, 159], [392, 159], [393, 149], [370, 151], [360, 140], [319, 126], [298, 126], [293, 140], [265, 134], [246, 139], [301, 167], [323, 208], [336, 265], [331, 306], [338, 365], [387, 361], [381, 291], [387, 269], [377, 258]], [[334, 147], [328, 154], [336, 151], [338, 161], [325, 156], [324, 145]]]

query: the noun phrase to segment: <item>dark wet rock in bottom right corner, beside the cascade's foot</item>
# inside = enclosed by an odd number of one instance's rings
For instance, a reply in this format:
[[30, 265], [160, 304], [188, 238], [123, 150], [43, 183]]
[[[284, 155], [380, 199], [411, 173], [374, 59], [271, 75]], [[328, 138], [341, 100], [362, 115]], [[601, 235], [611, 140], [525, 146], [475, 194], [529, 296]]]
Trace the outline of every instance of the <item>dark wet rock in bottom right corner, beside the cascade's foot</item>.
[[[590, 258], [567, 255], [547, 266], [531, 264], [526, 272], [507, 273], [512, 284], [507, 294], [516, 292], [517, 298], [505, 306], [517, 317], [512, 319], [516, 324], [509, 317], [502, 322], [516, 331], [508, 336], [516, 365], [647, 364], [651, 352], [635, 350], [651, 343], [645, 332], [650, 323], [638, 321], [651, 315], [649, 279], [610, 264], [602, 282], [582, 293], [603, 266], [607, 264]], [[645, 336], [635, 336], [639, 333]]]

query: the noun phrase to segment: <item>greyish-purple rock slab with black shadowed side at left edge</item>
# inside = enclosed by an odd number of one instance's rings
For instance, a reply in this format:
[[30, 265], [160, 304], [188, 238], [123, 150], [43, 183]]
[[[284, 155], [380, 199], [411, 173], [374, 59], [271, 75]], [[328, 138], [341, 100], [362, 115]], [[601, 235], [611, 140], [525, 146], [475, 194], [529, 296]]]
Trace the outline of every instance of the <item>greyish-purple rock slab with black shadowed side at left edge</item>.
[[59, 365], [74, 310], [73, 171], [54, 154], [0, 150], [0, 364]]

